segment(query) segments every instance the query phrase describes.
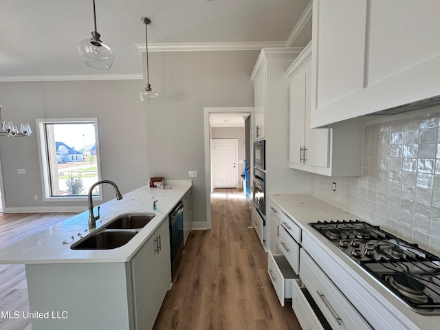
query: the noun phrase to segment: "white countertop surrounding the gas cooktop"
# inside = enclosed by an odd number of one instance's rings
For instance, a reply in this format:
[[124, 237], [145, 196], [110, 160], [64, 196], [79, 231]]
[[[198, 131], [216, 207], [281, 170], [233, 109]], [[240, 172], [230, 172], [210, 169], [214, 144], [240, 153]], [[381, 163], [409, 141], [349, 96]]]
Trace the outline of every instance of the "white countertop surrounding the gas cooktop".
[[403, 322], [406, 329], [439, 329], [440, 316], [424, 316], [412, 311], [412, 309], [407, 307], [399, 298], [386, 289], [382, 283], [379, 283], [362, 269], [358, 263], [353, 262], [349, 256], [345, 255], [335, 245], [325, 239], [324, 236], [308, 225], [308, 223], [316, 221], [348, 221], [356, 219], [365, 221], [364, 219], [307, 194], [270, 195], [270, 198], [280, 206], [284, 212], [294, 217], [296, 223], [300, 225], [300, 228], [307, 232], [314, 241], [325, 246], [334, 261], [344, 267], [345, 270], [351, 272], [351, 274], [356, 274], [359, 279], [362, 278], [363, 281], [356, 281], [363, 283], [362, 286], [365, 289], [376, 297], [381, 296], [381, 298], [378, 298], [380, 300], [385, 298], [384, 301], [386, 303], [384, 303], [384, 306], [388, 306], [388, 308], [391, 308], [389, 307], [390, 305], [393, 306], [393, 313]]

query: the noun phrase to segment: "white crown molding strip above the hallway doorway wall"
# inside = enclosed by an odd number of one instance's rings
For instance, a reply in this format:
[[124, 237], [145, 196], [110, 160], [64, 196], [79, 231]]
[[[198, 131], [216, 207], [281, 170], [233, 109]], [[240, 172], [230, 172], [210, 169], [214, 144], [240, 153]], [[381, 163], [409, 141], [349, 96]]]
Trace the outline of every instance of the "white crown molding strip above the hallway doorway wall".
[[[135, 44], [140, 52], [146, 52], [144, 43]], [[219, 52], [261, 50], [265, 47], [286, 47], [285, 41], [250, 43], [149, 43], [148, 52]]]

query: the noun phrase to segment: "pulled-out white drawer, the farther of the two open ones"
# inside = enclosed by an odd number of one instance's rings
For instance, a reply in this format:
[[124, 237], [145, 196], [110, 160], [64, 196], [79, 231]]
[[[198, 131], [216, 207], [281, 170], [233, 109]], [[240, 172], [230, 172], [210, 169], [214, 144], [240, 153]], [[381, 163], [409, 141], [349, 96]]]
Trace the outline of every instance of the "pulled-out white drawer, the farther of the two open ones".
[[267, 273], [281, 306], [284, 307], [284, 300], [292, 298], [292, 281], [298, 278], [298, 275], [292, 270], [289, 262], [283, 254], [267, 254]]

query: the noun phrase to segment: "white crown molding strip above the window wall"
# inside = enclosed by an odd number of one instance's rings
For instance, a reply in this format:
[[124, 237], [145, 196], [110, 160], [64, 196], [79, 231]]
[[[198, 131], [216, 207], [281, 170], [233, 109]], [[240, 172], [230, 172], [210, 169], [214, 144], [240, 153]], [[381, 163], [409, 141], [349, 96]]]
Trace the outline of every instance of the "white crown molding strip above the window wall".
[[53, 76], [0, 76], [0, 83], [24, 81], [80, 81], [80, 80], [142, 80], [143, 74], [75, 74]]

